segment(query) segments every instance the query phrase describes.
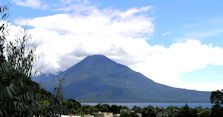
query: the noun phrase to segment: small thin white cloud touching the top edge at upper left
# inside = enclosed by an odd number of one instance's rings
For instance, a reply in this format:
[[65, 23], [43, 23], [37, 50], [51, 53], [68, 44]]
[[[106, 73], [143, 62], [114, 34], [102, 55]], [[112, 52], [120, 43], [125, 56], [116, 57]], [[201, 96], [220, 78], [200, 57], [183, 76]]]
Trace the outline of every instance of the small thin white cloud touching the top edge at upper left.
[[41, 0], [12, 0], [13, 3], [19, 6], [46, 9], [47, 5], [43, 4]]

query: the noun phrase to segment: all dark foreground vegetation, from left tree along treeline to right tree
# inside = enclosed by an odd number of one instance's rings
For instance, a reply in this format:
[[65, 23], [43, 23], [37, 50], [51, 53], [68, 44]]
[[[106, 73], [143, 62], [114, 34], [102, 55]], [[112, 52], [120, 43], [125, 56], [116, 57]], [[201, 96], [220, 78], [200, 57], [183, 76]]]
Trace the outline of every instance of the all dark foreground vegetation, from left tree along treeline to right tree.
[[[7, 17], [7, 7], [0, 7], [3, 21]], [[214, 106], [209, 108], [168, 107], [154, 108], [148, 106], [140, 108], [134, 106], [109, 106], [98, 104], [96, 106], [81, 105], [74, 99], [63, 98], [60, 81], [54, 94], [41, 89], [31, 80], [35, 63], [34, 49], [26, 48], [29, 36], [25, 32], [15, 42], [7, 41], [7, 23], [0, 26], [0, 116], [1, 117], [55, 117], [61, 114], [93, 114], [98, 111], [120, 113], [121, 117], [136, 117], [141, 113], [143, 117], [154, 117], [159, 112], [165, 112], [168, 117], [223, 117], [223, 90], [213, 91], [210, 96]], [[7, 46], [5, 46], [7, 45]], [[5, 48], [7, 47], [7, 48]]]

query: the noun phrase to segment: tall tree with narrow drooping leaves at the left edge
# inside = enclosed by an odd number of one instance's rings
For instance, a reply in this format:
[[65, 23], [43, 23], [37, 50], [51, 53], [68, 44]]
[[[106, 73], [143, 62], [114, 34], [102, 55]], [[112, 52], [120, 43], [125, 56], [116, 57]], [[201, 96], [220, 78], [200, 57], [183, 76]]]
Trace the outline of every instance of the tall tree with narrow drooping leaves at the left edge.
[[38, 112], [40, 87], [31, 80], [35, 63], [34, 48], [27, 48], [29, 36], [24, 31], [15, 41], [6, 39], [8, 7], [0, 6], [0, 116], [27, 117]]

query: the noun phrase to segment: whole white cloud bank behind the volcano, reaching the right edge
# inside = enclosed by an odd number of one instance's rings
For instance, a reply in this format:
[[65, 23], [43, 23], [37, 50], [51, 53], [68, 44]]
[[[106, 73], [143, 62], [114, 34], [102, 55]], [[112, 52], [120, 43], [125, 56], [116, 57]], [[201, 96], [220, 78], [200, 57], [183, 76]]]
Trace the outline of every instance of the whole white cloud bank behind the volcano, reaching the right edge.
[[[223, 65], [223, 49], [201, 44], [195, 39], [169, 47], [149, 45], [146, 39], [153, 34], [154, 26], [152, 18], [144, 12], [150, 8], [119, 11], [89, 7], [73, 14], [15, 22], [34, 27], [29, 32], [38, 44], [37, 53], [41, 57], [38, 67], [41, 72], [63, 71], [87, 55], [104, 54], [156, 82], [206, 90], [204, 84], [182, 84], [180, 77], [208, 64]], [[83, 14], [83, 11], [86, 13]], [[220, 88], [220, 85], [210, 85], [209, 90]]]

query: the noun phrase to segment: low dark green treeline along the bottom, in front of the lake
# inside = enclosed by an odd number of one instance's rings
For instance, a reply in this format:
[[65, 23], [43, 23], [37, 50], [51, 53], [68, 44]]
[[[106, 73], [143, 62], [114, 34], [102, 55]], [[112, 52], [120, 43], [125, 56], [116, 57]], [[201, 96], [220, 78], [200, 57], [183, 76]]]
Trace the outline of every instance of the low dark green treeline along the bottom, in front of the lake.
[[214, 105], [212, 108], [202, 108], [201, 106], [190, 108], [187, 104], [183, 107], [169, 106], [167, 108], [153, 106], [140, 108], [134, 106], [131, 109], [127, 106], [110, 106], [108, 104], [81, 105], [71, 112], [81, 116], [97, 112], [112, 112], [113, 114], [120, 114], [120, 117], [139, 117], [138, 114], [141, 114], [142, 117], [156, 117], [158, 115], [163, 117], [223, 117], [222, 107], [216, 108], [216, 105]]

